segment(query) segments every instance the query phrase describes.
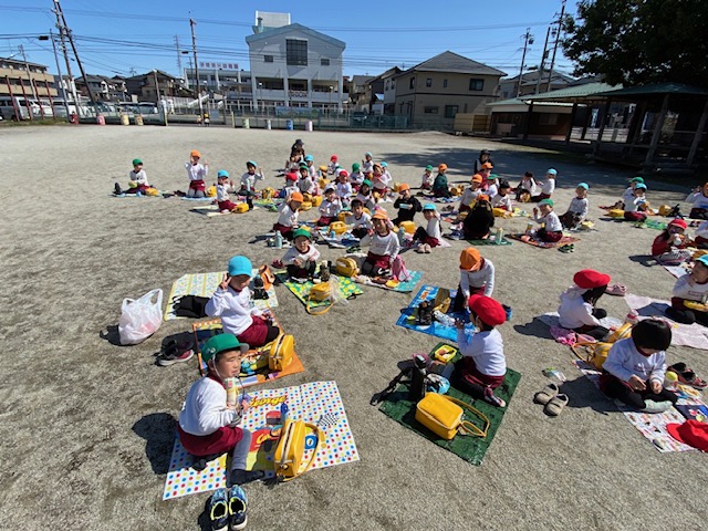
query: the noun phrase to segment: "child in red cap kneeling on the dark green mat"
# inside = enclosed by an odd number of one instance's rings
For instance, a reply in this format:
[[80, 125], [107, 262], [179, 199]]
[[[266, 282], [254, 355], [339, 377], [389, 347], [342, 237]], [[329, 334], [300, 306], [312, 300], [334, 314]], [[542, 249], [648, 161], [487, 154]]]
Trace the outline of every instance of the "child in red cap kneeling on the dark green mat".
[[468, 306], [471, 323], [479, 332], [471, 337], [465, 333], [465, 322], [456, 321], [457, 344], [462, 358], [455, 363], [451, 384], [473, 398], [481, 398], [497, 407], [507, 403], [494, 395], [507, 374], [504, 343], [496, 329], [507, 321], [507, 312], [490, 296], [472, 295]]

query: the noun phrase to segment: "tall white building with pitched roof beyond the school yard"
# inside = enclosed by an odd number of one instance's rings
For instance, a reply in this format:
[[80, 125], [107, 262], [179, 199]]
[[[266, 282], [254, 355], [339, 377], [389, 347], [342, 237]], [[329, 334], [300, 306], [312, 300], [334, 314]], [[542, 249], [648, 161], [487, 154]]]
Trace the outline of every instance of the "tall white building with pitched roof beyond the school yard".
[[342, 110], [342, 41], [290, 23], [289, 13], [256, 12], [246, 38], [251, 63], [253, 107]]

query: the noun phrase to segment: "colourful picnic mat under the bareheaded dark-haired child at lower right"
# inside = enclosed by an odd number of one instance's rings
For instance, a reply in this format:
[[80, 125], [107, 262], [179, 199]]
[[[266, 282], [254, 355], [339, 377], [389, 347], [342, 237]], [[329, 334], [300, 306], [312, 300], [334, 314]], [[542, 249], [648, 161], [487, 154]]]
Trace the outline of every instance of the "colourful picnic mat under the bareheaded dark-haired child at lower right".
[[[596, 387], [600, 387], [600, 371], [595, 369], [595, 367], [587, 362], [580, 360], [574, 360], [573, 364], [587, 379], [595, 384]], [[678, 396], [677, 405], [702, 405], [700, 394], [691, 387], [679, 385]], [[637, 428], [646, 439], [650, 440], [660, 452], [695, 450], [694, 447], [676, 440], [666, 430], [667, 424], [684, 424], [686, 420], [675, 407], [670, 407], [664, 413], [639, 413], [621, 405], [617, 405], [617, 408], [624, 414], [627, 420], [629, 420], [632, 426]]]

